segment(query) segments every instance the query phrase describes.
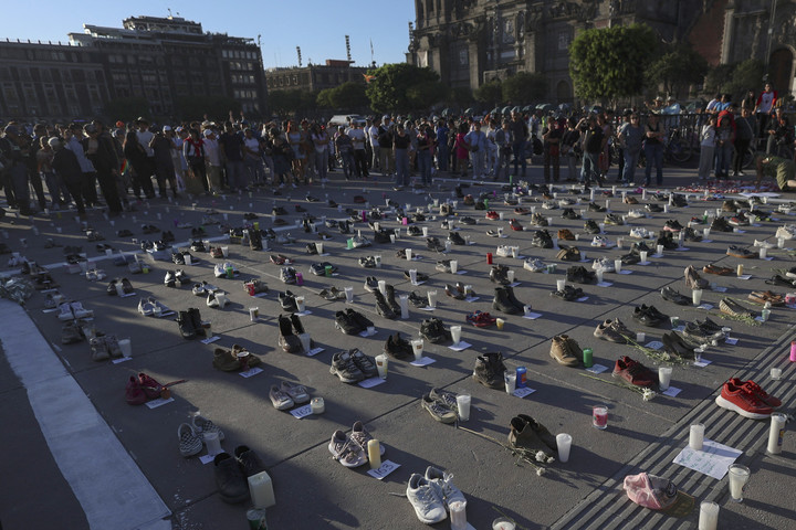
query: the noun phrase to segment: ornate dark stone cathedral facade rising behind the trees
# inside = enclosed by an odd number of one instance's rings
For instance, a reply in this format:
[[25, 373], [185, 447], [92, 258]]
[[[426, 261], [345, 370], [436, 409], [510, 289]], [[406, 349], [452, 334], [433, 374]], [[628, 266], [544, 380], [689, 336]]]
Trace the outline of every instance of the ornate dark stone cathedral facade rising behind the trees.
[[[689, 40], [706, 57], [765, 59], [772, 6], [773, 59], [793, 63], [794, 0], [415, 0], [407, 61], [451, 87], [475, 89], [517, 72], [547, 77], [547, 99], [573, 100], [569, 44], [587, 29], [645, 23], [663, 42]], [[700, 31], [698, 31], [700, 30]], [[753, 38], [756, 47], [750, 49]], [[751, 55], [750, 55], [751, 53]], [[714, 61], [715, 63], [716, 61]], [[793, 66], [782, 77], [793, 82]], [[789, 84], [788, 84], [789, 87]]]

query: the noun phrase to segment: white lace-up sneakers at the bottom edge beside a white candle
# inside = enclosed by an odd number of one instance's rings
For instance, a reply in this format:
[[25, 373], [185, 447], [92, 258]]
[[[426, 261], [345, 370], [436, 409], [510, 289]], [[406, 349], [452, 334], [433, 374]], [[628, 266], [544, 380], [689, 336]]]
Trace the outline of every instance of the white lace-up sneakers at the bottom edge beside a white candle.
[[426, 524], [443, 521], [453, 502], [467, 502], [464, 495], [453, 486], [453, 475], [429, 466], [426, 475], [409, 477], [407, 499], [415, 508], [418, 519]]

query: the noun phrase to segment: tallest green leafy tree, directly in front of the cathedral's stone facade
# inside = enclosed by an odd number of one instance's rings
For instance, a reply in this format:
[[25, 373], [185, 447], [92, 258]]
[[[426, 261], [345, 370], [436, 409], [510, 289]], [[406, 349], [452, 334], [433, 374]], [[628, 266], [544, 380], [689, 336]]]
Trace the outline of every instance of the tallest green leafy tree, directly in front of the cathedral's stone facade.
[[640, 94], [643, 66], [657, 50], [656, 34], [645, 24], [584, 31], [569, 46], [575, 94], [600, 103]]

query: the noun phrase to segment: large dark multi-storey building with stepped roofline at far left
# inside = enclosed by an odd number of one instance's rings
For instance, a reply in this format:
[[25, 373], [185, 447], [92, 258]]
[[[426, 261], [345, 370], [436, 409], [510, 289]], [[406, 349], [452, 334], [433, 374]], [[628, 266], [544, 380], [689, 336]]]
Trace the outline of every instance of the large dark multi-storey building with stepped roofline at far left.
[[122, 28], [84, 24], [69, 39], [0, 42], [1, 116], [102, 116], [109, 102], [130, 97], [146, 98], [149, 115], [165, 118], [178, 114], [182, 98], [201, 96], [234, 98], [251, 116], [265, 108], [262, 55], [252, 39], [206, 33], [179, 17], [132, 17]]

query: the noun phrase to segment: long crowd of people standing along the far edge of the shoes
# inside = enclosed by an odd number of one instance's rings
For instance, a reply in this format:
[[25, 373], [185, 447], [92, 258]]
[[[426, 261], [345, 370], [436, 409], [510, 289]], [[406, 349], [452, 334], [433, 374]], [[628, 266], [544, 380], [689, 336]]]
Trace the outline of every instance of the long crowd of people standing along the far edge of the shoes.
[[[750, 146], [765, 150], [765, 165], [781, 166], [792, 158], [794, 128], [777, 102], [767, 84], [756, 98], [750, 92], [739, 104], [718, 94], [700, 109], [699, 178], [712, 173], [727, 179], [731, 170], [733, 177], [743, 177]], [[0, 176], [9, 208], [22, 214], [33, 213], [36, 205], [41, 211], [72, 203], [81, 215], [100, 204], [117, 215], [134, 198], [151, 199], [156, 192], [178, 197], [326, 182], [336, 169], [347, 180], [377, 171], [402, 189], [427, 187], [439, 173], [524, 179], [531, 160], [543, 167], [545, 182], [562, 180], [564, 166], [563, 180], [603, 184], [614, 159], [617, 182], [652, 186], [654, 172], [654, 186], [660, 187], [666, 144], [680, 127], [680, 112], [673, 98], [664, 105], [658, 97], [621, 116], [610, 109], [567, 116], [515, 108], [509, 116], [384, 115], [346, 126], [308, 119], [250, 124], [241, 118], [151, 127], [142, 117], [111, 127], [95, 119], [29, 129], [11, 121], [0, 137]], [[774, 159], [781, 155], [784, 158]], [[641, 179], [636, 172], [642, 156]]]

